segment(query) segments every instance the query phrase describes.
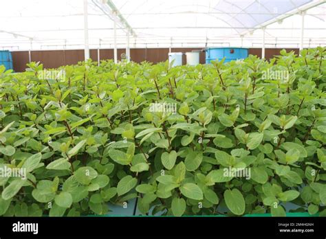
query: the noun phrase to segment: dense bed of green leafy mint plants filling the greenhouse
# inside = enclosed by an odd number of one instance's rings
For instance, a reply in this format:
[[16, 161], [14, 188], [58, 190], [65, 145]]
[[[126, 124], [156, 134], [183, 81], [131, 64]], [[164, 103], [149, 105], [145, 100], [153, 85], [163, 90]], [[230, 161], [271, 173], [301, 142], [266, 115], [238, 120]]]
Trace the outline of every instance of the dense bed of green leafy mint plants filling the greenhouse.
[[325, 55], [0, 68], [0, 215], [325, 216]]

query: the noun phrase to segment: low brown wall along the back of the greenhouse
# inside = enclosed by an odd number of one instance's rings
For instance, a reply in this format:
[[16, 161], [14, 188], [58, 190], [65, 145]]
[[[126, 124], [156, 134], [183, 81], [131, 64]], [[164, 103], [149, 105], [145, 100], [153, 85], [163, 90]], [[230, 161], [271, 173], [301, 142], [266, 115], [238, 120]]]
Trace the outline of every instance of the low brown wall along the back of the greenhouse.
[[[171, 52], [191, 52], [193, 50], [201, 50], [202, 48], [172, 48]], [[283, 48], [266, 48], [265, 58], [270, 59], [279, 55]], [[286, 49], [287, 52], [294, 51], [298, 54], [298, 49]], [[121, 60], [121, 54], [125, 53], [125, 49], [118, 49], [118, 60]], [[249, 54], [261, 57], [261, 48], [250, 48]], [[130, 49], [131, 60], [135, 62], [142, 62], [147, 60], [149, 62], [157, 63], [167, 60], [169, 48], [143, 48]], [[78, 61], [84, 59], [83, 49], [72, 50], [46, 50], [46, 51], [32, 51], [32, 61], [40, 61], [45, 68], [55, 68], [62, 65], [74, 65]], [[97, 49], [90, 50], [90, 58], [94, 61], [98, 59]], [[28, 51], [12, 52], [12, 59], [14, 64], [14, 71], [25, 71], [28, 63]], [[113, 49], [100, 49], [100, 60], [113, 59]], [[182, 56], [183, 64], [186, 64], [186, 56]], [[199, 54], [199, 62], [205, 63], [205, 52]]]

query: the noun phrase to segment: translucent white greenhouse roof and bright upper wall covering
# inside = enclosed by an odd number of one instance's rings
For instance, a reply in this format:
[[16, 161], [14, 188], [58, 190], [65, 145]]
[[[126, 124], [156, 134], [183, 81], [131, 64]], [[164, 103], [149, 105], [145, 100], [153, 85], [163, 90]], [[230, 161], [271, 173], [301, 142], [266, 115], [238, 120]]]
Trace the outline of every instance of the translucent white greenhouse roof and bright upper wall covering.
[[[89, 48], [326, 45], [326, 0], [87, 0]], [[116, 16], [117, 14], [118, 16]], [[0, 49], [83, 49], [83, 0], [6, 0]]]

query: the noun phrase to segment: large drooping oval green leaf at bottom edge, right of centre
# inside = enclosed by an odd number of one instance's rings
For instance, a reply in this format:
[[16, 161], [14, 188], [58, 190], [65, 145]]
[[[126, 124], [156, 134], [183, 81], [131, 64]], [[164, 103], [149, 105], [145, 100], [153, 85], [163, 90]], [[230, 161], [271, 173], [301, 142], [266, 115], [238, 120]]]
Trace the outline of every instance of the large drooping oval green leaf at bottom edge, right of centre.
[[245, 200], [239, 190], [234, 188], [233, 190], [226, 190], [224, 192], [224, 200], [226, 206], [235, 215], [242, 215], [246, 209]]

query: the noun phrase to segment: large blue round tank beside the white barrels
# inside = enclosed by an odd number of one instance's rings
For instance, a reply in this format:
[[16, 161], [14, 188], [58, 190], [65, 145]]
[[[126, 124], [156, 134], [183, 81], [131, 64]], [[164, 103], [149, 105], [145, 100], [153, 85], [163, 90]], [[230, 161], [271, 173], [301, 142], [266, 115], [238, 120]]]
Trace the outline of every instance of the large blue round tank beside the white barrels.
[[244, 59], [248, 57], [248, 48], [241, 47], [217, 47], [206, 49], [206, 64], [210, 64], [210, 60], [222, 60], [224, 62], [231, 60]]

